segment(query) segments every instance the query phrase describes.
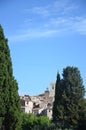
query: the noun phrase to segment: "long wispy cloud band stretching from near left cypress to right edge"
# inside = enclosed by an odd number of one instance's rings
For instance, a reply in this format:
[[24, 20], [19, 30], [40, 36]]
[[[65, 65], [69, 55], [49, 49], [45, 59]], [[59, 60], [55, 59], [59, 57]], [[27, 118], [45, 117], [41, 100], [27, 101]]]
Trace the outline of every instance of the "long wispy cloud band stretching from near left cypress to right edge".
[[11, 41], [25, 41], [33, 38], [62, 36], [64, 33], [67, 35], [71, 32], [86, 35], [86, 17], [52, 19], [40, 29], [25, 29], [17, 35], [9, 36], [9, 39]]

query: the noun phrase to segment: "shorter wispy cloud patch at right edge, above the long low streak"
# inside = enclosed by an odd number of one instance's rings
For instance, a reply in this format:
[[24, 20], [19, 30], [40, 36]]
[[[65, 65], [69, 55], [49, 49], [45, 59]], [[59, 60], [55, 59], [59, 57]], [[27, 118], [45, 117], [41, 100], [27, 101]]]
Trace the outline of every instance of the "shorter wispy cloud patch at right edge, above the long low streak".
[[75, 16], [75, 17], [58, 17], [51, 19], [45, 24], [46, 28], [56, 28], [56, 29], [67, 29], [73, 31], [79, 31], [81, 33], [86, 32], [86, 17]]

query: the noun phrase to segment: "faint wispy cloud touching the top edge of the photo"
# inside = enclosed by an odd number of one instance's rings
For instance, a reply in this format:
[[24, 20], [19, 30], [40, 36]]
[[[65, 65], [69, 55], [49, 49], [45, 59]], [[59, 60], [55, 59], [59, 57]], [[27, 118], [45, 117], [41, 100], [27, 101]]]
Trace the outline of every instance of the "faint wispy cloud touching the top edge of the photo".
[[76, 5], [71, 0], [56, 0], [52, 4], [45, 6], [36, 6], [31, 9], [25, 9], [25, 13], [33, 13], [40, 15], [41, 17], [53, 17], [54, 15], [67, 15], [71, 11], [75, 11], [79, 8], [79, 5]]

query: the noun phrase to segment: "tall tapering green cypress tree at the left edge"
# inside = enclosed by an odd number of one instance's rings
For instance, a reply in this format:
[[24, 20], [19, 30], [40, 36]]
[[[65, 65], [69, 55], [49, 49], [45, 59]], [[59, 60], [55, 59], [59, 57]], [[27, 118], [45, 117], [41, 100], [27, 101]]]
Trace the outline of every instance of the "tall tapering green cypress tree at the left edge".
[[8, 40], [0, 25], [0, 115], [5, 130], [20, 130], [20, 99], [13, 76]]

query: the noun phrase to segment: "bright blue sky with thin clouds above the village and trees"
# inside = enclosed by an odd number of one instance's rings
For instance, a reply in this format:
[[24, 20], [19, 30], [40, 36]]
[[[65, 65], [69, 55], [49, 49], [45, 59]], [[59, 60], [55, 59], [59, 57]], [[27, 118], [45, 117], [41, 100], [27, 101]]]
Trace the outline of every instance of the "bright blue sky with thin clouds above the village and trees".
[[0, 0], [19, 95], [38, 95], [78, 67], [86, 87], [86, 0]]

